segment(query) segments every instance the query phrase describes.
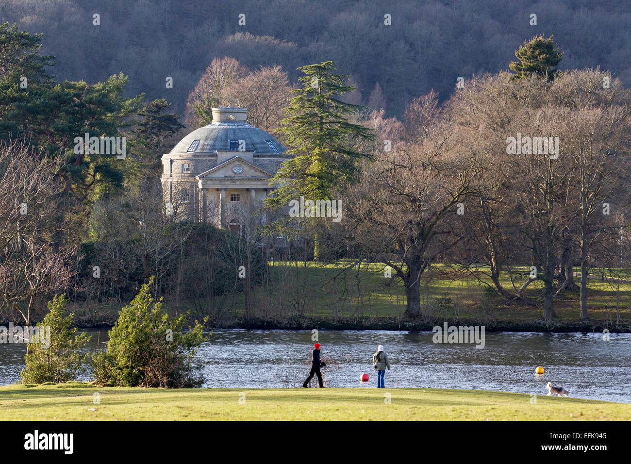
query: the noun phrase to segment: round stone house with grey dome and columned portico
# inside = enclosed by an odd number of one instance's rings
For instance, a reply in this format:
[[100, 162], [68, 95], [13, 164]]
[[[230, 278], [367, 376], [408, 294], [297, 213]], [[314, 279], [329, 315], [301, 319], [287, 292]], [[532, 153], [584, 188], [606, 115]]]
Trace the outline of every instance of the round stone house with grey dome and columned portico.
[[246, 108], [213, 108], [212, 124], [163, 155], [163, 196], [178, 217], [237, 233], [255, 213], [265, 222], [261, 205], [273, 189], [269, 181], [291, 157], [246, 117]]

